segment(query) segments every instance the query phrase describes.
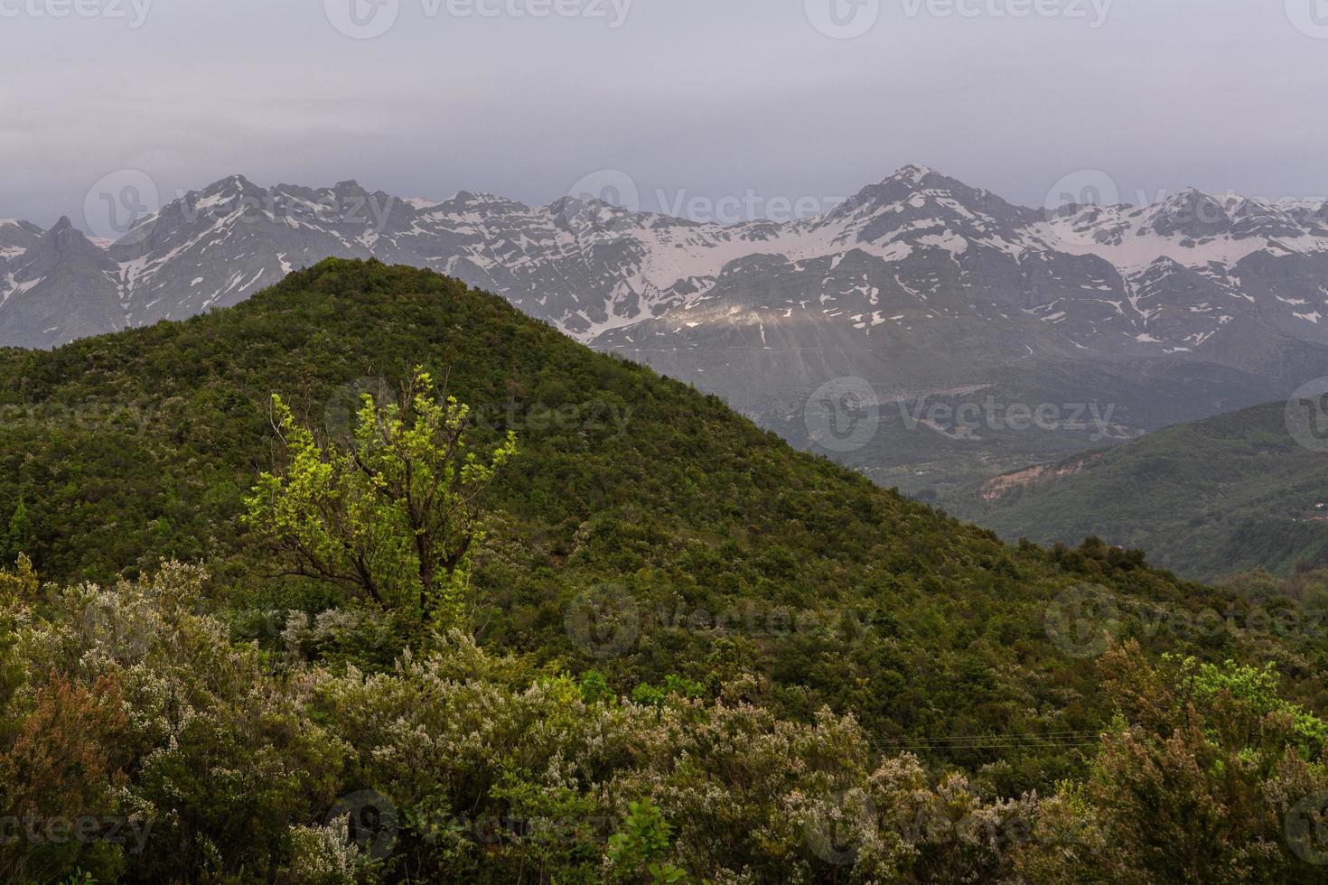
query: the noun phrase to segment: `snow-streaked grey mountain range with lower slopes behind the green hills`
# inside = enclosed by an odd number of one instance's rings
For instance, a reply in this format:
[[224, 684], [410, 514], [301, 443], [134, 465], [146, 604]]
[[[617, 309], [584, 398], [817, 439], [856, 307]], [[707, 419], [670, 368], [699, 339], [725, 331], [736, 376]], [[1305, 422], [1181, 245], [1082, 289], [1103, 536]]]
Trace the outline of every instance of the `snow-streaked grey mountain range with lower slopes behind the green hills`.
[[[1044, 211], [920, 166], [822, 215], [736, 226], [590, 196], [434, 202], [236, 175], [114, 243], [68, 219], [0, 224], [0, 344], [49, 348], [227, 306], [327, 256], [502, 295], [802, 447], [825, 442], [807, 421], [815, 391], [862, 379], [829, 401], [849, 422], [879, 405], [880, 427], [829, 451], [924, 496], [1328, 374], [1328, 204], [1187, 190], [1147, 207]], [[938, 402], [988, 415], [1093, 406], [1109, 419], [1092, 434], [908, 419]]]

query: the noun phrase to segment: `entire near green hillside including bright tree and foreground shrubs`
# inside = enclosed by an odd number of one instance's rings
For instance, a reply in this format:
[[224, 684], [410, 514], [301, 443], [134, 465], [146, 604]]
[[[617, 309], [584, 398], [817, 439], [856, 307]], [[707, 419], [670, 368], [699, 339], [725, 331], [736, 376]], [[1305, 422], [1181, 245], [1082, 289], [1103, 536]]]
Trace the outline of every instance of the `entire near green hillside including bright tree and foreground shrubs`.
[[4, 352], [0, 413], [7, 881], [1324, 872], [1328, 594], [1003, 544], [454, 280]]

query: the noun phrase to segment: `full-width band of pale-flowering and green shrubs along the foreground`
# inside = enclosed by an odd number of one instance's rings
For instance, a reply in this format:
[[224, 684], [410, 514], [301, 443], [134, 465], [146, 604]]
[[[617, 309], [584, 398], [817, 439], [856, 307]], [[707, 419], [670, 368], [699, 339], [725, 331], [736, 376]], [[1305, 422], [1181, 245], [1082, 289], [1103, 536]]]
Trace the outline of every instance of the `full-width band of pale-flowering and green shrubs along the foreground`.
[[[1113, 650], [1098, 666], [1116, 715], [1085, 775], [1001, 797], [980, 771], [878, 752], [853, 716], [780, 718], [756, 674], [637, 702], [461, 632], [373, 670], [272, 654], [231, 642], [203, 573], [178, 564], [113, 588], [4, 586], [0, 776], [8, 813], [40, 821], [0, 847], [7, 881], [1323, 873], [1301, 858], [1323, 858], [1328, 723], [1250, 666]], [[70, 821], [64, 840], [52, 820]]]

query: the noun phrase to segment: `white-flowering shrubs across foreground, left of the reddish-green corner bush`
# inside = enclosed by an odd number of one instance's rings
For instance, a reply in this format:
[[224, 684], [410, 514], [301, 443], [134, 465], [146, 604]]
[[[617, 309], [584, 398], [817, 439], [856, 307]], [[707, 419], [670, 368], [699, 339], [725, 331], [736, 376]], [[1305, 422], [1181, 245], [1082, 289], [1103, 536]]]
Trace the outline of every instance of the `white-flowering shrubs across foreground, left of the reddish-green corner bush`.
[[[780, 719], [753, 702], [760, 679], [635, 703], [456, 630], [372, 669], [320, 655], [373, 621], [336, 609], [290, 616], [272, 657], [205, 610], [205, 581], [166, 564], [3, 597], [8, 710], [101, 723], [74, 728], [92, 746], [65, 801], [150, 823], [141, 849], [100, 847], [105, 874], [810, 882], [1005, 862], [987, 840], [1005, 805], [916, 759], [878, 763], [851, 716]], [[924, 816], [944, 827], [899, 823]]]

